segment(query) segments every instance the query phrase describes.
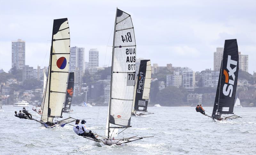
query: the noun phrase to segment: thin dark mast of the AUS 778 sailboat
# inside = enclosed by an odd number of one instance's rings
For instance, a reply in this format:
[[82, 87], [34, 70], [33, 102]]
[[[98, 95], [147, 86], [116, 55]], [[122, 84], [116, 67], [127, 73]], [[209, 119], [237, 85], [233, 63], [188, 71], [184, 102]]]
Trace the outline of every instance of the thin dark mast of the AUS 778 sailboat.
[[[117, 7], [116, 7], [116, 15], [117, 15]], [[115, 29], [114, 29], [114, 37], [113, 37], [113, 49], [112, 49], [112, 65], [111, 65], [111, 83], [110, 83], [110, 97], [109, 97], [109, 105], [108, 105], [108, 138], [109, 138], [109, 119], [110, 119], [110, 107], [111, 107], [111, 98], [112, 98], [112, 80], [113, 80], [113, 66], [114, 66], [114, 48], [115, 48], [115, 36], [116, 36], [116, 19], [115, 19]]]

